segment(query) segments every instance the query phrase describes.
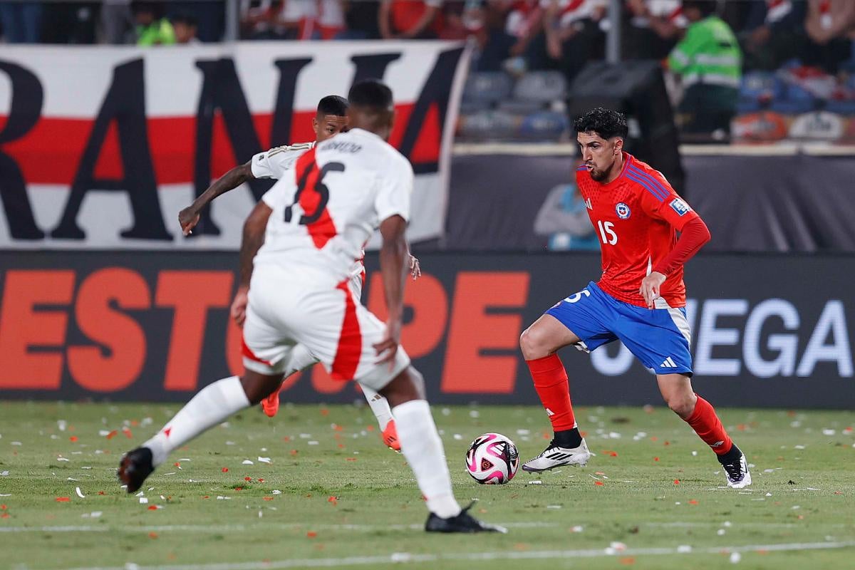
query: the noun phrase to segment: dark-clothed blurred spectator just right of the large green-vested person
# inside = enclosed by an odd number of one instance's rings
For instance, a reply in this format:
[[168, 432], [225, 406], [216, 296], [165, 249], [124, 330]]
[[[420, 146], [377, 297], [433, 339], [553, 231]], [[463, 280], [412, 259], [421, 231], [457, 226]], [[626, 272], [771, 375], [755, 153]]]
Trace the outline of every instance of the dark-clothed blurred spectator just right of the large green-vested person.
[[805, 4], [793, 0], [765, 0], [747, 5], [740, 33], [745, 68], [774, 70], [799, 55], [804, 43]]

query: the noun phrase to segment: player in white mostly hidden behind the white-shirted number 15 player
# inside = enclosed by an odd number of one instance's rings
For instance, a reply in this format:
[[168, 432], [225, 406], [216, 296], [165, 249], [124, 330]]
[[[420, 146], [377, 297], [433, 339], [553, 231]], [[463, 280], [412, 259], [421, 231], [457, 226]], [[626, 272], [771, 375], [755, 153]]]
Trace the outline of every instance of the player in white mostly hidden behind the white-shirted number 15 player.
[[[304, 152], [315, 148], [315, 144], [321, 143], [327, 140], [327, 138], [331, 138], [339, 132], [346, 130], [347, 107], [348, 103], [345, 97], [339, 97], [338, 95], [323, 97], [318, 102], [317, 113], [312, 118], [312, 130], [315, 131], [315, 141], [277, 146], [265, 152], [259, 152], [257, 155], [252, 156], [250, 161], [233, 167], [219, 179], [216, 179], [192, 204], [179, 212], [178, 221], [184, 235], [192, 232], [193, 228], [198, 224], [199, 213], [205, 206], [215, 200], [216, 197], [225, 194], [227, 191], [232, 191], [234, 188], [251, 179], [278, 180], [285, 178], [286, 173], [293, 169], [297, 159]], [[410, 271], [414, 279], [421, 274], [418, 267], [418, 260], [412, 256], [410, 257]], [[362, 259], [353, 263], [351, 277], [351, 288], [356, 292], [357, 297], [362, 297], [365, 279], [365, 266]], [[239, 288], [232, 303], [231, 313], [239, 326], [243, 325], [245, 318], [247, 293], [248, 291], [245, 288]], [[293, 362], [295, 368], [291, 373], [304, 370], [313, 366], [318, 361], [308, 351], [300, 350], [299, 355], [300, 357], [296, 358]], [[286, 377], [290, 376], [291, 373], [286, 374]], [[380, 396], [370, 388], [363, 393], [380, 426], [383, 443], [391, 447], [392, 450], [400, 451], [401, 445], [398, 443], [395, 420], [392, 418], [392, 411], [389, 408], [389, 403], [386, 402], [386, 398]], [[279, 391], [274, 391], [270, 396], [262, 400], [262, 409], [268, 417], [272, 418], [276, 415], [279, 411]]]

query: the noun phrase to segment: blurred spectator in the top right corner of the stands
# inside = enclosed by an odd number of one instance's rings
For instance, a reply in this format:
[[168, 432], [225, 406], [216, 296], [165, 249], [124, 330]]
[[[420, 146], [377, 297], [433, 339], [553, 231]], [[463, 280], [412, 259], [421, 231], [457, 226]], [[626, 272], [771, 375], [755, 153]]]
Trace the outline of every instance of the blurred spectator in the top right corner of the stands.
[[805, 65], [837, 73], [840, 63], [852, 55], [847, 35], [855, 27], [855, 1], [808, 0], [805, 31], [807, 43], [801, 57]]

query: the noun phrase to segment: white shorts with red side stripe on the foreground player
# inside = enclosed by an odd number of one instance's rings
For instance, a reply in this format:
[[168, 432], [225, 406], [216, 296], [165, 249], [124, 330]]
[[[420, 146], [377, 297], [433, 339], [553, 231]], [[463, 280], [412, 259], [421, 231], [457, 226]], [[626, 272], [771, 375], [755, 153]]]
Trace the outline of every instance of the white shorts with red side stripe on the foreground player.
[[355, 379], [380, 390], [410, 357], [402, 347], [392, 367], [376, 364], [374, 344], [386, 325], [359, 302], [362, 279], [332, 278], [280, 267], [256, 267], [244, 323], [244, 366], [257, 373], [285, 373], [293, 347], [302, 344], [333, 379]]

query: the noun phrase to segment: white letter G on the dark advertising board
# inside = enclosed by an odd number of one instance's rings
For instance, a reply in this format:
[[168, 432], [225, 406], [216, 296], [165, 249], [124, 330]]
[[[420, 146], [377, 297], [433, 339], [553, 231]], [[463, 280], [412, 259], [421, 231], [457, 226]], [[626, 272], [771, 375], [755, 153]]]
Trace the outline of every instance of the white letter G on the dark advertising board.
[[793, 303], [783, 299], [767, 299], [759, 303], [748, 316], [743, 343], [743, 357], [748, 372], [758, 378], [772, 376], [792, 376], [796, 366], [796, 353], [799, 350], [797, 334], [770, 334], [766, 341], [769, 350], [777, 350], [778, 356], [767, 361], [760, 355], [760, 334], [763, 325], [770, 317], [780, 317], [788, 331], [799, 330], [799, 311]]

